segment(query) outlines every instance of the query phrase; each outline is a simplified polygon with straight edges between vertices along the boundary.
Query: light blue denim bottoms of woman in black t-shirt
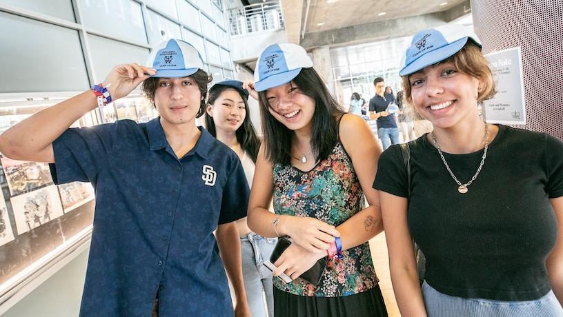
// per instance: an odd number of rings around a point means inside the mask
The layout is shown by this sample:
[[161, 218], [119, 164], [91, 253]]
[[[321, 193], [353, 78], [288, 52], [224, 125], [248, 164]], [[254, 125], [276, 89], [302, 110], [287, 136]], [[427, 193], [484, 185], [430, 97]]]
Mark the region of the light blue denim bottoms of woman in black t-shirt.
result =
[[438, 292], [426, 282], [422, 296], [428, 317], [561, 317], [563, 308], [552, 291], [537, 300], [510, 302], [462, 298]]

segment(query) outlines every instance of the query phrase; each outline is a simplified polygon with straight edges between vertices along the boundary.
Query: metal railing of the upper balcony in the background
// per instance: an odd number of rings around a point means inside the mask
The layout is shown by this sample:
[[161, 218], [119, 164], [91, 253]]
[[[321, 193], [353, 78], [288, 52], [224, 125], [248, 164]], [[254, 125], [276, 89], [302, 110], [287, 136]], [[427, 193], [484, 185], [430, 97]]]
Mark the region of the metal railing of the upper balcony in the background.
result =
[[242, 35], [284, 28], [279, 1], [251, 4], [228, 10], [230, 35]]

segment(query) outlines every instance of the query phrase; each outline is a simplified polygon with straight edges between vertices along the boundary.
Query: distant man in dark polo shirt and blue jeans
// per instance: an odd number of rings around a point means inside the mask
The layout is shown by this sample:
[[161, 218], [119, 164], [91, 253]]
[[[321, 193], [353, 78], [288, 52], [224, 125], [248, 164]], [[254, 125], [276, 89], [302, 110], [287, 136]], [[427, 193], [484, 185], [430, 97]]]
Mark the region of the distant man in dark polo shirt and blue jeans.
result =
[[393, 102], [392, 98], [385, 98], [385, 81], [381, 77], [373, 80], [375, 86], [375, 96], [370, 99], [369, 110], [373, 111], [371, 119], [377, 119], [377, 136], [382, 141], [383, 150], [387, 150], [391, 144], [399, 144], [399, 129], [394, 114], [387, 112], [389, 103]]

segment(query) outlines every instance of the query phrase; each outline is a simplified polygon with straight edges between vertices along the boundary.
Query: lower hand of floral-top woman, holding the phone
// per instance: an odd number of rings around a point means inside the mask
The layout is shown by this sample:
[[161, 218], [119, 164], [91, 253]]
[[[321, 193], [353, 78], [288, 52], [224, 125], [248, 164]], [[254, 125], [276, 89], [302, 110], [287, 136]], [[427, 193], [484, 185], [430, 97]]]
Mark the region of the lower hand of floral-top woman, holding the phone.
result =
[[295, 280], [299, 275], [313, 267], [319, 258], [324, 258], [325, 256], [326, 252], [309, 252], [304, 247], [297, 245], [297, 243], [291, 243], [275, 261], [274, 265], [277, 269], [273, 272], [273, 276], [278, 276], [283, 272], [292, 280]]

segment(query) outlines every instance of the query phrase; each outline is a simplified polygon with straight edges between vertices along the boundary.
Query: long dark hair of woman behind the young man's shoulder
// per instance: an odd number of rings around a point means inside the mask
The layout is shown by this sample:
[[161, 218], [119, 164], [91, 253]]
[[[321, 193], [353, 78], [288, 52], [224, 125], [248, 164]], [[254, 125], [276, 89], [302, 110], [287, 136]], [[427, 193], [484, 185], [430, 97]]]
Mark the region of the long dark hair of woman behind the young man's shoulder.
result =
[[[260, 139], [256, 136], [256, 131], [254, 130], [254, 126], [252, 121], [250, 121], [250, 109], [248, 108], [248, 101], [246, 98], [235, 88], [224, 86], [224, 85], [215, 85], [209, 90], [209, 97], [207, 99], [207, 103], [209, 105], [213, 105], [215, 101], [221, 96], [225, 90], [232, 89], [238, 92], [241, 95], [242, 100], [244, 101], [244, 108], [246, 109], [246, 116], [244, 117], [244, 121], [242, 121], [241, 126], [237, 129], [237, 141], [239, 141], [242, 150], [248, 153], [250, 159], [256, 163], [256, 158], [258, 156], [258, 150], [260, 149]], [[205, 121], [206, 121], [206, 128], [209, 133], [215, 137], [217, 137], [217, 130], [215, 129], [215, 122], [213, 118], [205, 112]]]

